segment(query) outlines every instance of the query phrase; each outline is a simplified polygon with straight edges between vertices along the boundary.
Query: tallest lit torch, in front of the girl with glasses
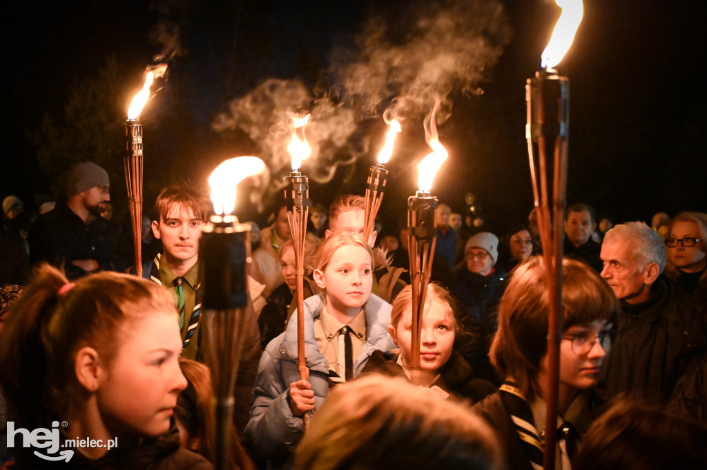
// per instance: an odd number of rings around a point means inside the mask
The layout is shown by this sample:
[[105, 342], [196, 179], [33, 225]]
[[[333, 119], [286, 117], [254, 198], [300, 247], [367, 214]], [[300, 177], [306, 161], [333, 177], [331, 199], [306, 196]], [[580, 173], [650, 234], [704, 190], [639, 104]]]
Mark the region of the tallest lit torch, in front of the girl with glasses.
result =
[[[569, 79], [560, 76], [553, 68], [564, 57], [574, 40], [583, 16], [581, 0], [555, 0], [562, 8], [550, 41], [542, 52], [542, 70], [525, 85], [527, 106], [528, 157], [532, 180], [534, 205], [542, 242], [542, 256], [547, 269], [550, 310], [547, 336], [549, 364], [549, 392], [546, 423], [554, 423], [557, 416], [557, 394], [559, 385], [559, 350], [562, 336], [562, 255], [563, 216], [566, 206], [567, 151], [569, 139]], [[547, 154], [554, 155], [551, 169], [552, 213], [548, 192], [549, 175]], [[544, 468], [554, 469], [556, 430], [548, 426], [544, 442]]]

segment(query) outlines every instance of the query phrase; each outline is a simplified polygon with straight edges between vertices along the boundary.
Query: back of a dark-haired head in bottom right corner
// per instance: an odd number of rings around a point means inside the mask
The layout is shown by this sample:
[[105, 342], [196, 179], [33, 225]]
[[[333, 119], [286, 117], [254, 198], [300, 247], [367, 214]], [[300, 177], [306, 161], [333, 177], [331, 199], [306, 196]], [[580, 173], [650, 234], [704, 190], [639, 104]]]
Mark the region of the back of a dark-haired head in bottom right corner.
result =
[[707, 426], [659, 406], [617, 399], [583, 437], [574, 470], [697, 470]]

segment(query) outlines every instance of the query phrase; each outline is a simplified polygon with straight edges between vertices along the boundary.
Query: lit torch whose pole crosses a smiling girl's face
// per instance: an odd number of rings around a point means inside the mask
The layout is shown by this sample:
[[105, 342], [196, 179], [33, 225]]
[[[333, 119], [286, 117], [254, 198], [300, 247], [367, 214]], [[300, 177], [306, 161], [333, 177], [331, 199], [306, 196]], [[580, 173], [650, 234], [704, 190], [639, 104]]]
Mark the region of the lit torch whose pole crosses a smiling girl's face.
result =
[[423, 158], [417, 167], [419, 172], [419, 191], [407, 199], [408, 255], [412, 285], [412, 344], [409, 369], [411, 381], [416, 384], [421, 382], [420, 327], [437, 242], [435, 209], [437, 208], [438, 199], [430, 194], [430, 190], [437, 171], [447, 160], [448, 156], [437, 134], [435, 115], [439, 105], [440, 100], [437, 98], [432, 108], [430, 122], [425, 129], [427, 142], [432, 148], [432, 153]]

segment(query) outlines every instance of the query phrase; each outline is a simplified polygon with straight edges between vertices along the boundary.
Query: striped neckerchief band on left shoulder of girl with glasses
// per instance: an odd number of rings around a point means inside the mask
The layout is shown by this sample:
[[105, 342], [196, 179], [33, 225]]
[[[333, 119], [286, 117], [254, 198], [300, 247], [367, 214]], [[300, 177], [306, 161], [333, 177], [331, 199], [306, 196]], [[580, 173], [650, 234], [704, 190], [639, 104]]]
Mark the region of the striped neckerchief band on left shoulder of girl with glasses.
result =
[[534, 470], [542, 470], [543, 446], [540, 437], [537, 435], [532, 411], [525, 397], [513, 382], [505, 382], [498, 389], [501, 394], [503, 405], [513, 420], [515, 430], [520, 437], [520, 445], [525, 450], [525, 454], [530, 459], [530, 465]]

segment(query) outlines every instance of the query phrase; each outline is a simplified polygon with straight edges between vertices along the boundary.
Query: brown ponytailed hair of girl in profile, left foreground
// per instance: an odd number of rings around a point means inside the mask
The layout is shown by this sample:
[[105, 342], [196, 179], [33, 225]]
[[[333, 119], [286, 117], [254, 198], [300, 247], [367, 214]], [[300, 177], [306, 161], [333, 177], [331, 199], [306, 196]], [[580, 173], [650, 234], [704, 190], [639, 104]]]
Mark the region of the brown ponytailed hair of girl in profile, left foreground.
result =
[[[76, 281], [42, 264], [8, 313], [0, 341], [0, 383], [24, 427], [47, 416], [66, 416], [87, 397], [74, 372], [84, 346], [110, 365], [124, 324], [148, 310], [174, 312], [173, 296], [152, 281], [103, 272]], [[66, 290], [59, 294], [59, 289]]]

